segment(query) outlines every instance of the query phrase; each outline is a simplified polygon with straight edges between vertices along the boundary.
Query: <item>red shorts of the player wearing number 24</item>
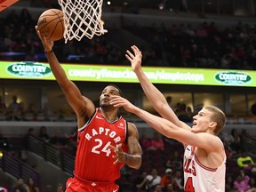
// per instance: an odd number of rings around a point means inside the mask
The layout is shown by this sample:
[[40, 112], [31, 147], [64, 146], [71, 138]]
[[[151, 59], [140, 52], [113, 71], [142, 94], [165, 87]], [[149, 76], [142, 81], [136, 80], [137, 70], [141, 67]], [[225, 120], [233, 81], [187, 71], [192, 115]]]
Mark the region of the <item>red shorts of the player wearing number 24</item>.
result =
[[119, 186], [115, 182], [93, 182], [74, 178], [69, 178], [66, 182], [65, 192], [117, 192]]

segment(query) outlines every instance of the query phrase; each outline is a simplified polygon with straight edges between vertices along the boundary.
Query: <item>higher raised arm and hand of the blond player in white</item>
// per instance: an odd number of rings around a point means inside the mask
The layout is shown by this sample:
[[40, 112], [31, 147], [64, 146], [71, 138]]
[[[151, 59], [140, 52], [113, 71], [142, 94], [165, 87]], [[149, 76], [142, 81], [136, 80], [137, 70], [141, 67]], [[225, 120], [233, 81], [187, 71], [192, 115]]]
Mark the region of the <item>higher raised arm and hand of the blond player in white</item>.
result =
[[[140, 81], [140, 85], [145, 92], [148, 100], [151, 102], [156, 111], [164, 118], [172, 121], [173, 124], [182, 126], [179, 118], [172, 111], [172, 108], [168, 105], [166, 99], [162, 92], [160, 92], [154, 84], [152, 84], [146, 74], [141, 68], [142, 53], [136, 45], [132, 45], [132, 52], [126, 51], [125, 57], [130, 60], [132, 65], [132, 70], [135, 72], [136, 76]], [[186, 126], [185, 126], [186, 127]]]

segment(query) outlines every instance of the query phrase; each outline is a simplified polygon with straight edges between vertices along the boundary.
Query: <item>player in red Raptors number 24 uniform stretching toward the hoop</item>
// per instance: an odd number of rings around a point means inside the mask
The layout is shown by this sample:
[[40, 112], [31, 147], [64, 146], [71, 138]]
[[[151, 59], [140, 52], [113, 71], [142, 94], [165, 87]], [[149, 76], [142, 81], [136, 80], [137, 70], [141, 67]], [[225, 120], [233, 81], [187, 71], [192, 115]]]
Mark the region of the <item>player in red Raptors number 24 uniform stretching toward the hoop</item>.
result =
[[100, 94], [100, 108], [95, 108], [68, 80], [52, 52], [53, 42], [41, 36], [37, 26], [36, 33], [44, 45], [52, 73], [77, 116], [75, 171], [66, 183], [66, 192], [118, 191], [115, 180], [120, 177], [121, 167], [127, 164], [139, 169], [141, 164], [137, 128], [117, 116], [118, 108], [109, 104], [114, 95], [121, 95], [120, 90], [115, 85], [105, 87]]

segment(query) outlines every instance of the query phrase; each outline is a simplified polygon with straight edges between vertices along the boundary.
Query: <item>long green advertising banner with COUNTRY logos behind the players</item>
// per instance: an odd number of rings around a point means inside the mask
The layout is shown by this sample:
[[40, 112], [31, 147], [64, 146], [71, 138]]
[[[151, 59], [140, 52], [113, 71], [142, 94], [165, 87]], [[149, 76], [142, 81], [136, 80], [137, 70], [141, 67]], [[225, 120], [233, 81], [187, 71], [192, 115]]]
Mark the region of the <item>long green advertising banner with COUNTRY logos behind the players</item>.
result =
[[[61, 64], [72, 81], [138, 83], [129, 66]], [[195, 84], [256, 87], [252, 70], [143, 67], [154, 84]], [[0, 61], [0, 78], [54, 80], [47, 63]]]

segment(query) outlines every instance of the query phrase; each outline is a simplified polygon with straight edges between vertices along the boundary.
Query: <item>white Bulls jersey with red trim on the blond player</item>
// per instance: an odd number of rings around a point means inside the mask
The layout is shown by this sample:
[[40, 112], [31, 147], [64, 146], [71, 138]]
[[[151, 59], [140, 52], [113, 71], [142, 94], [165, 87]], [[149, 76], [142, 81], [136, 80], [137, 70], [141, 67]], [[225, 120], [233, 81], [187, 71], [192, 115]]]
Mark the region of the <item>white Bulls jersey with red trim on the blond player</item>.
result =
[[194, 147], [185, 145], [183, 169], [186, 192], [225, 191], [226, 156], [220, 167], [212, 169], [199, 162]]

